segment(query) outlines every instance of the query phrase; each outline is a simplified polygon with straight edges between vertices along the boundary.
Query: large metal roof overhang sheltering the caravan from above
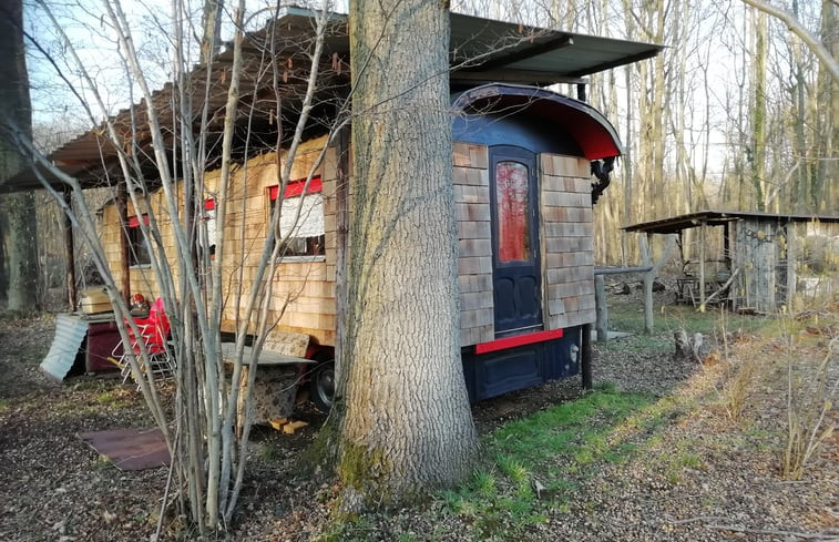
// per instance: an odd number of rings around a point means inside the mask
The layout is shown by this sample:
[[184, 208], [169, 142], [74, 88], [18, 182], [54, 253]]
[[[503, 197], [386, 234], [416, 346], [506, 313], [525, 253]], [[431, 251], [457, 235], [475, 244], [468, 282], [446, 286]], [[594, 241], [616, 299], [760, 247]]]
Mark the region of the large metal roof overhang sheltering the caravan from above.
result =
[[[274, 105], [274, 80], [270, 74], [266, 74], [266, 70], [258, 69], [266, 62], [266, 48], [270, 51], [269, 59], [276, 62], [277, 70], [284, 72], [280, 76], [283, 82], [276, 89], [287, 94], [284, 114], [287, 116], [286, 122], [293, 122], [296, 112], [299, 111], [299, 100], [295, 100], [294, 96], [305, 89], [308, 75], [305, 67], [308, 50], [314, 43], [316, 17], [315, 11], [285, 8], [272, 24], [248, 33], [245, 39], [243, 51], [246, 68], [239, 89], [241, 110], [247, 110], [253, 104], [257, 114], [263, 114], [262, 124], [257, 122], [257, 130], [264, 130], [266, 139], [270, 137], [272, 131], [276, 132], [276, 123], [270, 122], [268, 112]], [[328, 130], [327, 119], [337, 111], [338, 96], [345, 93], [349, 85], [349, 39], [346, 25], [346, 16], [331, 16], [320, 68], [323, 83], [317, 96], [323, 105], [319, 114], [316, 114], [310, 123], [310, 135]], [[655, 57], [662, 49], [663, 47], [656, 44], [575, 34], [452, 13], [450, 81], [453, 89], [461, 90], [485, 82], [531, 85], [582, 83], [585, 75]], [[214, 82], [207, 101], [211, 114], [211, 147], [212, 137], [221, 136], [227, 98], [225, 74], [232, 63], [233, 51], [228, 47], [215, 58], [209, 78], [206, 67], [196, 67], [190, 74], [191, 80], [198, 83], [207, 80]], [[175, 91], [174, 85], [168, 83], [153, 93], [153, 101], [158, 106], [161, 119], [175, 116], [170, 106]], [[204, 105], [204, 86], [197, 84], [190, 92], [195, 104], [192, 113], [193, 126], [197, 130], [197, 114]], [[141, 166], [147, 167], [149, 174], [154, 175], [151, 137], [144, 129], [146, 121], [146, 108], [143, 102], [111, 117], [124, 142], [121, 146], [139, 147], [142, 154], [137, 156]], [[136, 130], [132, 129], [132, 122]], [[248, 117], [245, 113], [239, 115], [238, 124], [243, 129], [248, 122], [249, 130], [253, 130], [254, 117]], [[83, 187], [102, 186], [109, 175], [121, 175], [117, 161], [120, 151], [105, 136], [104, 129], [102, 124], [65, 143], [50, 154], [49, 160], [63, 173], [76, 177]], [[164, 126], [164, 130], [170, 134], [173, 132], [171, 127]], [[136, 146], [131, 145], [131, 141], [136, 141]], [[171, 151], [173, 137], [170, 136], [166, 144]], [[6, 182], [0, 182], [0, 192], [40, 188], [42, 186], [39, 175], [57, 187], [63, 184], [48, 168], [33, 165]]]

